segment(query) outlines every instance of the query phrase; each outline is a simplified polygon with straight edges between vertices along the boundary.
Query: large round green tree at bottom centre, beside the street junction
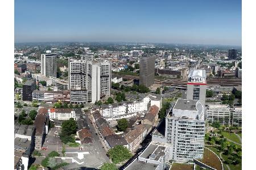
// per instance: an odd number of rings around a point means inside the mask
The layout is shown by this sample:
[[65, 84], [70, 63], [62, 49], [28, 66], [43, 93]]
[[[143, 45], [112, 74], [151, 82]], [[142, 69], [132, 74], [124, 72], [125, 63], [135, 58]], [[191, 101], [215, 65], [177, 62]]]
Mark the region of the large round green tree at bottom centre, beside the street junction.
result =
[[126, 147], [121, 145], [110, 148], [110, 150], [108, 151], [108, 155], [110, 159], [112, 159], [112, 162], [115, 164], [123, 162], [124, 160], [127, 160], [132, 156], [130, 151]]

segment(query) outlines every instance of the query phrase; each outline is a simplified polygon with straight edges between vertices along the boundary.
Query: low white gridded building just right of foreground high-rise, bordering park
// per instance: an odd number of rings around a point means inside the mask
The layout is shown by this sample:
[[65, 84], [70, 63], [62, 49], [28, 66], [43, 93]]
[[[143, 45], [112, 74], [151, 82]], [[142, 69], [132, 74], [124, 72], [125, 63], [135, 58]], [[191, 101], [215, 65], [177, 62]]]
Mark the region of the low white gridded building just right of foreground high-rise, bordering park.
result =
[[207, 121], [220, 122], [221, 125], [230, 125], [230, 107], [226, 104], [209, 104], [207, 107]]

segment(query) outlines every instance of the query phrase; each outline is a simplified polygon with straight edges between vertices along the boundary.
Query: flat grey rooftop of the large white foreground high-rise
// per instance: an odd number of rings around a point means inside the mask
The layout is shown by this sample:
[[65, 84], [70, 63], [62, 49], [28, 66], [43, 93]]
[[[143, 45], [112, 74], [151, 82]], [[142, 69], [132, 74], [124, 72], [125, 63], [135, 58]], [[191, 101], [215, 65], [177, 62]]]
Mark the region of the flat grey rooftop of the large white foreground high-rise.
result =
[[174, 109], [197, 111], [196, 103], [198, 100], [178, 99], [174, 105]]

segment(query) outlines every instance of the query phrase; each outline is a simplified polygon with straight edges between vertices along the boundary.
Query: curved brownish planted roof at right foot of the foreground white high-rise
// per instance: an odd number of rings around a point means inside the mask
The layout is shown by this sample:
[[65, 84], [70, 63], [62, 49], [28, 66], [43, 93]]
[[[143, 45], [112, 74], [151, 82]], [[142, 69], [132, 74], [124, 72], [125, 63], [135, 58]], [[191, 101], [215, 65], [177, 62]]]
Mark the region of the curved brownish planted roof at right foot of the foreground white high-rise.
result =
[[208, 166], [215, 168], [217, 170], [222, 170], [221, 161], [213, 153], [213, 151], [204, 148], [203, 159], [199, 160], [201, 163], [207, 164]]

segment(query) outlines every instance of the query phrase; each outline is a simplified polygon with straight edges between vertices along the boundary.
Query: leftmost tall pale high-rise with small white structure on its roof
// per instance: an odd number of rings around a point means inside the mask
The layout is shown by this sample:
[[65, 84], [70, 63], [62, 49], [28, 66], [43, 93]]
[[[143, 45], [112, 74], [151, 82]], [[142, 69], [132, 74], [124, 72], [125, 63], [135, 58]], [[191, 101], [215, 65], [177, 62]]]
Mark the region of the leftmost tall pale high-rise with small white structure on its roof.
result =
[[46, 54], [41, 54], [41, 74], [46, 77], [57, 77], [57, 56], [47, 50]]

